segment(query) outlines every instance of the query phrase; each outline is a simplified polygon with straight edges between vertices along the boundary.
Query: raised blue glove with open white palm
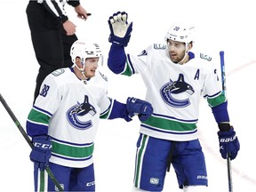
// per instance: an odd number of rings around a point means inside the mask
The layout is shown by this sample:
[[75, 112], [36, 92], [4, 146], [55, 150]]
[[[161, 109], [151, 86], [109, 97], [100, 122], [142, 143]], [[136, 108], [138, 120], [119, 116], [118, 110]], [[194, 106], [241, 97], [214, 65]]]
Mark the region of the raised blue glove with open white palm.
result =
[[110, 36], [108, 41], [117, 46], [127, 46], [132, 33], [132, 23], [127, 22], [126, 12], [116, 12], [109, 17]]

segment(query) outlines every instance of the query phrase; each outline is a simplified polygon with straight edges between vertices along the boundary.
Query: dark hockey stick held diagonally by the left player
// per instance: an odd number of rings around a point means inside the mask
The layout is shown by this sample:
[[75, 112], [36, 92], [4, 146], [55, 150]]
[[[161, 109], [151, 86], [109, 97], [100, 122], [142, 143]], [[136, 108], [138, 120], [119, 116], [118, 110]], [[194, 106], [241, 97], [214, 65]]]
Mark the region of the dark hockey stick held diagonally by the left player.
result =
[[[23, 127], [21, 126], [20, 122], [18, 121], [18, 119], [16, 118], [16, 116], [14, 116], [12, 109], [9, 108], [8, 104], [6, 103], [6, 101], [4, 100], [4, 97], [2, 96], [2, 94], [0, 93], [0, 101], [2, 102], [2, 104], [4, 105], [4, 108], [6, 109], [6, 111], [8, 112], [8, 114], [12, 117], [12, 120], [14, 122], [14, 124], [16, 124], [16, 126], [18, 127], [18, 129], [20, 130], [21, 134], [23, 135], [23, 137], [25, 138], [25, 140], [27, 140], [28, 145], [30, 146], [30, 148], [33, 148], [33, 143], [32, 141], [29, 139], [27, 132], [25, 132], [25, 130], [23, 129]], [[54, 182], [54, 184], [56, 185], [56, 187], [59, 189], [59, 191], [64, 191], [63, 188], [60, 186], [60, 183], [58, 182], [58, 180], [56, 180], [56, 178], [54, 177], [51, 169], [49, 168], [49, 166], [47, 165], [45, 168], [45, 171], [48, 173], [48, 175], [50, 176], [50, 178], [52, 179], [52, 181]]]

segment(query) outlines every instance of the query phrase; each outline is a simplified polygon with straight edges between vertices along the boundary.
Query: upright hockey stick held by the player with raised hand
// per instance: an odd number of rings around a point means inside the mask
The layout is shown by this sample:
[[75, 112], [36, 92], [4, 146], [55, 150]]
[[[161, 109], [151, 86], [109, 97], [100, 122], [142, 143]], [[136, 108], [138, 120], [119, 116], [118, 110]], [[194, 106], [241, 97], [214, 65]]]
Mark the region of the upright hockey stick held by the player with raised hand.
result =
[[[220, 51], [220, 70], [221, 70], [221, 80], [222, 80], [222, 91], [227, 97], [227, 87], [226, 87], [226, 73], [225, 73], [225, 62], [224, 62], [224, 52]], [[231, 160], [230, 154], [227, 156], [227, 166], [228, 166], [228, 192], [233, 192], [233, 182], [232, 182], [232, 171], [231, 171]]]

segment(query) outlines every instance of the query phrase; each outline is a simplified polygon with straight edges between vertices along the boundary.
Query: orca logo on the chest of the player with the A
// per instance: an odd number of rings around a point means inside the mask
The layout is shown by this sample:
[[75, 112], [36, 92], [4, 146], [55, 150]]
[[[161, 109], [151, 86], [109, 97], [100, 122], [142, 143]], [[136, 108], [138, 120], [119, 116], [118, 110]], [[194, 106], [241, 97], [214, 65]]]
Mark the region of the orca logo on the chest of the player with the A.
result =
[[[184, 92], [192, 95], [195, 90], [190, 84], [185, 82], [182, 74], [179, 75], [177, 81], [172, 82], [172, 79], [170, 79], [170, 82], [164, 84], [164, 86], [160, 89], [160, 94], [163, 100], [174, 108], [185, 108], [190, 105], [190, 100], [184, 99], [182, 94]], [[174, 98], [174, 95], [177, 95], [177, 98]]]

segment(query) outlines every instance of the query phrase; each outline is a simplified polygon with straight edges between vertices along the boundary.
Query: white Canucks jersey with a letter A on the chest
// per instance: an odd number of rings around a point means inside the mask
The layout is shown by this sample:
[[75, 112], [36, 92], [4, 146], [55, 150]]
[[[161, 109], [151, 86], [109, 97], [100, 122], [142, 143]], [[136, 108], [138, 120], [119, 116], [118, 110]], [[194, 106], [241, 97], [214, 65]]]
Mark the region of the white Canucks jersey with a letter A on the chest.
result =
[[195, 140], [200, 97], [211, 107], [226, 100], [212, 58], [188, 54], [184, 65], [172, 62], [164, 44], [153, 44], [139, 56], [127, 54], [122, 74], [140, 73], [147, 86], [146, 100], [154, 108], [154, 114], [141, 123], [140, 132], [165, 140]]

